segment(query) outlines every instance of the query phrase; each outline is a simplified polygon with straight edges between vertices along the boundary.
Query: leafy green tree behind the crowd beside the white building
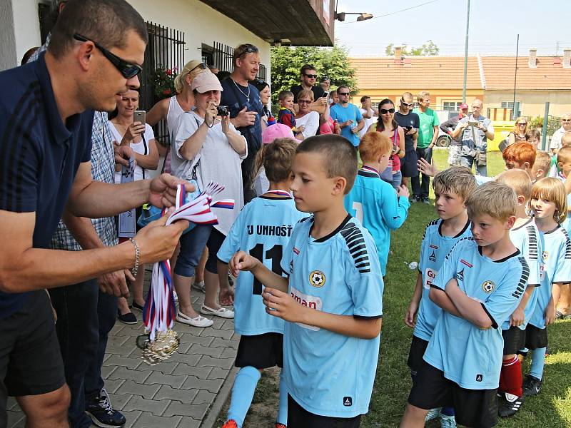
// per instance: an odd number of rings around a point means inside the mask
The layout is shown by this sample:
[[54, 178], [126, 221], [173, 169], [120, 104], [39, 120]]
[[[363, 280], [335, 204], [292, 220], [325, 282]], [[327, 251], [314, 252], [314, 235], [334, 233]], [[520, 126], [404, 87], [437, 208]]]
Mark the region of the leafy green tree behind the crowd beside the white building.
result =
[[311, 64], [318, 74], [331, 79], [331, 87], [349, 86], [353, 93], [358, 92], [355, 68], [351, 67], [345, 46], [321, 48], [317, 46], [281, 46], [271, 49], [272, 103], [278, 102], [280, 91], [289, 91], [300, 83], [300, 68]]

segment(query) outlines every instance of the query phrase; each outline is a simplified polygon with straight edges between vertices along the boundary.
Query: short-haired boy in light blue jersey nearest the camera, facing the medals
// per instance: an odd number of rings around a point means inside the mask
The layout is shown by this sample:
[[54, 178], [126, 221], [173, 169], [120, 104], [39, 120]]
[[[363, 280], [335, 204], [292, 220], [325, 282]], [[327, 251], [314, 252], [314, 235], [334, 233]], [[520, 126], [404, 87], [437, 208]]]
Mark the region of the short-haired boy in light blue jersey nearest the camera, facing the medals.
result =
[[295, 226], [283, 278], [245, 252], [230, 267], [266, 289], [267, 312], [288, 321], [283, 372], [288, 428], [358, 427], [368, 412], [378, 362], [383, 277], [368, 231], [343, 207], [357, 151], [341, 136], [307, 138], [297, 149], [295, 206], [313, 215]]

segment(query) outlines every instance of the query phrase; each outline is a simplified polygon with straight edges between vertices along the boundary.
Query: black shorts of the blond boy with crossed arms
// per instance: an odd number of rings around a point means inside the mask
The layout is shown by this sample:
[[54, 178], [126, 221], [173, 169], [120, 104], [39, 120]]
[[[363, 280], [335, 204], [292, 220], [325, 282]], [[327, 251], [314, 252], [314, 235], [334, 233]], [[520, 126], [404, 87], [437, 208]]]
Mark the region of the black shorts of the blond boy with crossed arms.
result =
[[420, 409], [454, 407], [458, 425], [489, 428], [497, 424], [497, 389], [465, 389], [423, 362], [408, 402]]

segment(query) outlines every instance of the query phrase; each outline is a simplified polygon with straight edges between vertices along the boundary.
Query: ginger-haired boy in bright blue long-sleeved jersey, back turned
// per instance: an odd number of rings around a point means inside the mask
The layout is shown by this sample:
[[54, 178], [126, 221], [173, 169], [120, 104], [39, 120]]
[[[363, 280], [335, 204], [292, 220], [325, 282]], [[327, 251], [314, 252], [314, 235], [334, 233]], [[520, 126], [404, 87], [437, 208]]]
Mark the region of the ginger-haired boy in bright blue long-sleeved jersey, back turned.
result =
[[380, 179], [379, 171], [387, 168], [393, 151], [390, 139], [378, 132], [365, 133], [359, 144], [363, 168], [357, 173], [353, 188], [345, 195], [345, 210], [359, 220], [375, 240], [380, 270], [385, 276], [390, 231], [405, 223], [410, 202], [408, 188], [400, 185], [397, 192]]

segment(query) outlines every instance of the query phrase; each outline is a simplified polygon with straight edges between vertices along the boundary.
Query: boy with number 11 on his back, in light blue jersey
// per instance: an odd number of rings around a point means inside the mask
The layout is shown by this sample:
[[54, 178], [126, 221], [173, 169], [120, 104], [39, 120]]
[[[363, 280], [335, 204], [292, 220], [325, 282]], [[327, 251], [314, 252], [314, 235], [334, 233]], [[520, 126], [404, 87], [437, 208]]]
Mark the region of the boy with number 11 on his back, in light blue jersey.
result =
[[[229, 289], [228, 261], [239, 250], [246, 251], [282, 275], [281, 258], [293, 226], [303, 218], [289, 193], [291, 162], [298, 144], [292, 138], [279, 138], [263, 146], [256, 165], [263, 165], [270, 181], [269, 190], [248, 203], [218, 250], [221, 287]], [[256, 174], [254, 174], [256, 175]], [[241, 428], [251, 406], [263, 369], [283, 367], [283, 320], [271, 317], [263, 305], [262, 284], [244, 272], [236, 281], [234, 330], [241, 335], [236, 356], [240, 370], [234, 379], [228, 418], [223, 428]], [[288, 423], [288, 392], [280, 377], [280, 404], [276, 428]]]

